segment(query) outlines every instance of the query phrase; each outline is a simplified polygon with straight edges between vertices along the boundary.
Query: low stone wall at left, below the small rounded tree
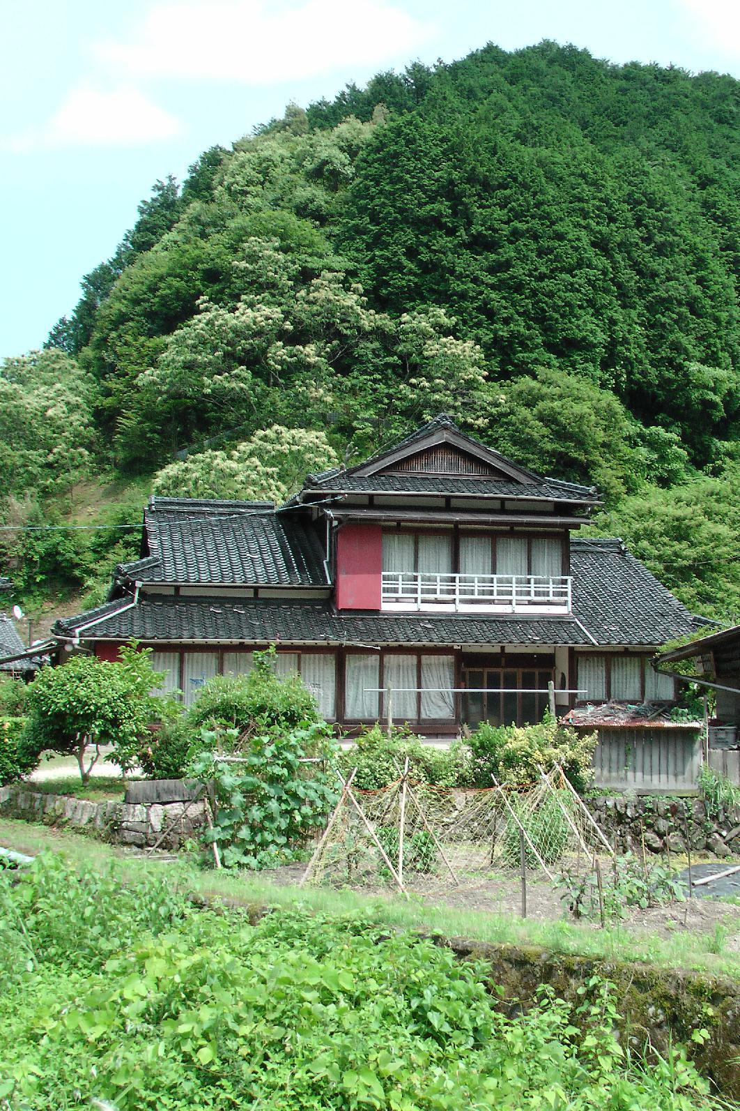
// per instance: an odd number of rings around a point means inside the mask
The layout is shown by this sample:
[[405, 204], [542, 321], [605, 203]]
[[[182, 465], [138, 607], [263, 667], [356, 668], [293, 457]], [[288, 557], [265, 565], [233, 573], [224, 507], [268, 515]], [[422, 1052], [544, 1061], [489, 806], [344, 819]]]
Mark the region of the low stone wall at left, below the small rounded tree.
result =
[[203, 802], [88, 802], [65, 794], [41, 794], [27, 787], [0, 788], [0, 813], [9, 818], [69, 825], [118, 844], [178, 849], [205, 824]]

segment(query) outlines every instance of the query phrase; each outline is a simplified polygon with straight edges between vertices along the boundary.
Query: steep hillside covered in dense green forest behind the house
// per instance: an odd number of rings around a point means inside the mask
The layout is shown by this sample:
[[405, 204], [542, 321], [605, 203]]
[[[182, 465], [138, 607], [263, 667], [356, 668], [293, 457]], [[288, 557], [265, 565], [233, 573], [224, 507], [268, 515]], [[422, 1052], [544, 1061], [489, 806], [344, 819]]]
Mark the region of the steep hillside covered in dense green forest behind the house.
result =
[[[596, 482], [597, 531], [737, 615], [739, 109], [730, 77], [488, 46], [206, 151], [7, 361], [6, 522], [72, 519], [101, 473], [133, 483], [109, 526], [150, 483], [282, 497], [447, 411]], [[3, 534], [26, 597], [92, 598], [138, 542]]]

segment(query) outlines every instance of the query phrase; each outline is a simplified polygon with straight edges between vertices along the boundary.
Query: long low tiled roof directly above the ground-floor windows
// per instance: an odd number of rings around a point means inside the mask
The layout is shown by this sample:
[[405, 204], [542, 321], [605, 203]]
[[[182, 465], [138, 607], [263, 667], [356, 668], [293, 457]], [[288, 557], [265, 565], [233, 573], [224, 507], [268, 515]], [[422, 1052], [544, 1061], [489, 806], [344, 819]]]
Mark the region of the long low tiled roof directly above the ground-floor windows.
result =
[[[130, 600], [129, 600], [130, 601]], [[116, 608], [118, 604], [118, 608]], [[337, 612], [322, 601], [233, 598], [141, 598], [109, 603], [54, 625], [62, 635], [91, 620], [90, 640], [245, 641], [361, 644], [588, 644], [572, 618]]]

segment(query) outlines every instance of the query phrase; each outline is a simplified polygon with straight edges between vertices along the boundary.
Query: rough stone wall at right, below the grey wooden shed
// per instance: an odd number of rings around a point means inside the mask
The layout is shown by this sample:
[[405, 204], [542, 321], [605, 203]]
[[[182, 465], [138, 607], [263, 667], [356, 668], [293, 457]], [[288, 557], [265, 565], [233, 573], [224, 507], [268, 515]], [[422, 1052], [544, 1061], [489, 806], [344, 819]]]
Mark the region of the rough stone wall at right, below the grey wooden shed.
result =
[[656, 795], [599, 795], [589, 799], [589, 810], [619, 852], [683, 854], [709, 852], [713, 857], [740, 854], [740, 807], [709, 812], [701, 799]]

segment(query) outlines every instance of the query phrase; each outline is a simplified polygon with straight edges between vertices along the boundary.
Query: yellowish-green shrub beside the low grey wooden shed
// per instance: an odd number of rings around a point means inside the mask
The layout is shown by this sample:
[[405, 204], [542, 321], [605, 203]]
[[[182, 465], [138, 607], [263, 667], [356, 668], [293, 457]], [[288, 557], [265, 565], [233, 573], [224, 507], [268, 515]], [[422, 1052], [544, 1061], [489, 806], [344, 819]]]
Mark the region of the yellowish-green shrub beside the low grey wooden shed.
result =
[[549, 714], [538, 725], [485, 723], [468, 742], [473, 782], [490, 787], [493, 772], [500, 783], [526, 785], [539, 780], [538, 764], [549, 771], [558, 763], [576, 790], [584, 791], [594, 777], [596, 741], [596, 733], [577, 733]]

